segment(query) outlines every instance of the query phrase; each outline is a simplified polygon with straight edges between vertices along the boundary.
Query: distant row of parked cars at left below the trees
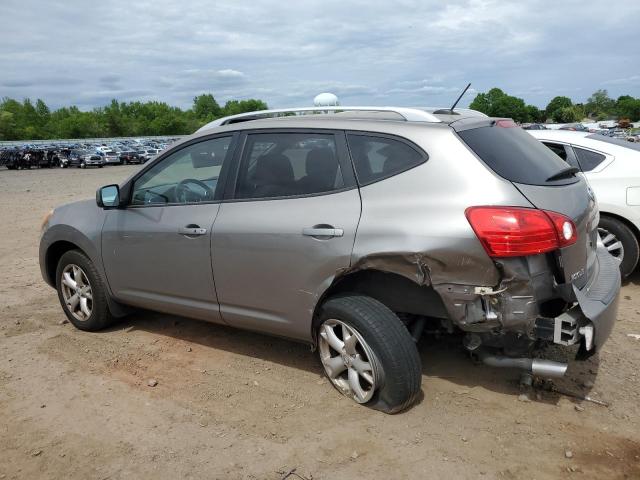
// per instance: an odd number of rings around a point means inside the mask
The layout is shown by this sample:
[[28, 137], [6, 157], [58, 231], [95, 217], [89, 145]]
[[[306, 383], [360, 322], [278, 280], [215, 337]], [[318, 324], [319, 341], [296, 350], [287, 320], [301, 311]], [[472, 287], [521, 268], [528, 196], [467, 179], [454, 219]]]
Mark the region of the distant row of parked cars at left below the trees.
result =
[[167, 148], [169, 143], [123, 140], [111, 144], [51, 143], [23, 145], [0, 150], [0, 166], [9, 170], [52, 167], [98, 167], [143, 164]]

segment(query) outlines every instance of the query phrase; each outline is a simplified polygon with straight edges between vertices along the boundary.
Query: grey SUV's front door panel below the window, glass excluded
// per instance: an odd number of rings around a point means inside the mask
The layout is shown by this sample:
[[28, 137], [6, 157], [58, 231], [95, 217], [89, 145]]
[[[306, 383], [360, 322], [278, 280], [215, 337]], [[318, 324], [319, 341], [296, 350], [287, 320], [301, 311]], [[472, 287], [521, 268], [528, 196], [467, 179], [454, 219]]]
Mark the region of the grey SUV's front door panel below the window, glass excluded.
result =
[[220, 322], [211, 270], [211, 231], [219, 209], [209, 203], [110, 210], [102, 255], [115, 297]]

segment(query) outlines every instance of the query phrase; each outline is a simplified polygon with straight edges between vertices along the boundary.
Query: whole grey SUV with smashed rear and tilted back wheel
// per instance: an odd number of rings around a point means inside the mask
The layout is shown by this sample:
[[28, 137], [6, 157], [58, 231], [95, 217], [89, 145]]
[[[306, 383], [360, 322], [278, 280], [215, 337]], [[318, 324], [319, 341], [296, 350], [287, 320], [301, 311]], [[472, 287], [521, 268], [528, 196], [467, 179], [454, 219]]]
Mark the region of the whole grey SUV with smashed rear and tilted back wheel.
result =
[[52, 211], [40, 265], [71, 323], [144, 308], [300, 340], [389, 413], [420, 393], [425, 328], [550, 376], [534, 346], [602, 347], [620, 272], [582, 174], [511, 120], [323, 109], [217, 120]]

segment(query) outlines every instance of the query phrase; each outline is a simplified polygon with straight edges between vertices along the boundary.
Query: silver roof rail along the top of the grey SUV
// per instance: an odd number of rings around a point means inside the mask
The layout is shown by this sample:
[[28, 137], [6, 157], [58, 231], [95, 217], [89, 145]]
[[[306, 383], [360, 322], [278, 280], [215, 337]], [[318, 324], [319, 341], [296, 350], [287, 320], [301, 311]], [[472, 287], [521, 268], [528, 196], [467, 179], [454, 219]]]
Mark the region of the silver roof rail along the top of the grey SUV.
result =
[[230, 115], [228, 117], [218, 118], [212, 122], [207, 123], [203, 127], [198, 129], [198, 132], [202, 130], [208, 130], [214, 127], [220, 127], [222, 125], [229, 125], [231, 123], [246, 122], [250, 120], [259, 120], [263, 118], [283, 117], [285, 114], [325, 114], [328, 112], [391, 112], [401, 116], [407, 122], [428, 122], [428, 123], [440, 123], [440, 120], [433, 113], [426, 112], [419, 108], [406, 108], [406, 107], [345, 107], [341, 105], [336, 106], [319, 106], [319, 107], [300, 107], [300, 108], [277, 108], [273, 110], [258, 110], [256, 112], [240, 113], [238, 115]]

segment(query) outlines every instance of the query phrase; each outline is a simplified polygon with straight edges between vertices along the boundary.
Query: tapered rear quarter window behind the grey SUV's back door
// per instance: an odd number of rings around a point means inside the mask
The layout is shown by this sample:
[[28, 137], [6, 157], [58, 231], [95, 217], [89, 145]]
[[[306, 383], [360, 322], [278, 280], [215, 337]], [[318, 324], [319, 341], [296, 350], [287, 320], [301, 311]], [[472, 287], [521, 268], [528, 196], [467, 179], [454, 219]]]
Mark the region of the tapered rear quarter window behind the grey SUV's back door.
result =
[[347, 140], [360, 185], [404, 172], [427, 160], [426, 154], [393, 138], [348, 134]]

